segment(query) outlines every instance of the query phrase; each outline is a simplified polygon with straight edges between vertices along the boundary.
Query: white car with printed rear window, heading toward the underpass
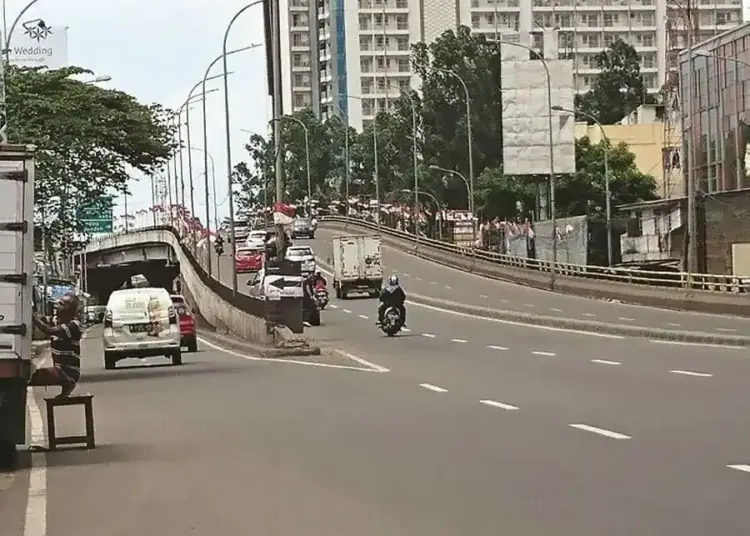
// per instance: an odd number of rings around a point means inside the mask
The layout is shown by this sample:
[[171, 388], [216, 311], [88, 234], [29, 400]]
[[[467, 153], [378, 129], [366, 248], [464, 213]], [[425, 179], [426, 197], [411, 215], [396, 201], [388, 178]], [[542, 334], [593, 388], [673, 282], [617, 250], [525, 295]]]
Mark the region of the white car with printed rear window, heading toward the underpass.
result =
[[104, 368], [129, 357], [165, 356], [182, 365], [180, 322], [163, 288], [116, 290], [104, 314]]

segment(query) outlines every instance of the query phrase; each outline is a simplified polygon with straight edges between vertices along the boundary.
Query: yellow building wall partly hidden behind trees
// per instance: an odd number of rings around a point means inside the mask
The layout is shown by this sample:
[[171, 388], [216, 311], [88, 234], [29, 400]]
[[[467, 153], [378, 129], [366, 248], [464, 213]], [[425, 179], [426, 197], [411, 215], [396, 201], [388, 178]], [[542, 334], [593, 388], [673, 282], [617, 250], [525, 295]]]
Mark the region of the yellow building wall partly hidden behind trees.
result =
[[[676, 130], [676, 129], [674, 129]], [[630, 152], [635, 155], [635, 164], [642, 173], [652, 175], [656, 180], [656, 194], [663, 198], [682, 197], [684, 195], [682, 174], [679, 169], [664, 176], [664, 149], [680, 147], [679, 132], [673, 132], [669, 142], [665, 143], [664, 123], [642, 123], [636, 125], [604, 125], [604, 132], [613, 146], [625, 142]], [[597, 125], [576, 123], [576, 138], [588, 136], [592, 143], [599, 143], [602, 132]]]

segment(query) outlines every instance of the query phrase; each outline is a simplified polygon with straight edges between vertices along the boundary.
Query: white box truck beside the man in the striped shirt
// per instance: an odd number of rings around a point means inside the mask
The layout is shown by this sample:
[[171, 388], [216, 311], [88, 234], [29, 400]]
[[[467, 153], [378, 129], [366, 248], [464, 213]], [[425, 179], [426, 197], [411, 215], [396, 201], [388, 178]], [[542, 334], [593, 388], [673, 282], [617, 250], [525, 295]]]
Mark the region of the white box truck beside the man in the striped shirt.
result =
[[0, 466], [26, 442], [34, 303], [34, 154], [0, 145]]

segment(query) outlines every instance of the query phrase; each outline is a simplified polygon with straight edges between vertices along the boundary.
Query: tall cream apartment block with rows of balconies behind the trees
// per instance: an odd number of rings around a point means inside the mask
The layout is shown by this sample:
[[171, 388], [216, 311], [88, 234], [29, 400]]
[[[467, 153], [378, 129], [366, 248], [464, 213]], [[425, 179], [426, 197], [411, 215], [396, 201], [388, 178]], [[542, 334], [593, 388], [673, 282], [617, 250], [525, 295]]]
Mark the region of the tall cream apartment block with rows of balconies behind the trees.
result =
[[418, 84], [410, 45], [459, 24], [572, 59], [579, 92], [598, 74], [596, 54], [622, 39], [656, 92], [687, 42], [688, 10], [695, 43], [742, 22], [742, 0], [280, 1], [284, 112], [310, 107], [323, 119], [348, 116], [355, 128]]

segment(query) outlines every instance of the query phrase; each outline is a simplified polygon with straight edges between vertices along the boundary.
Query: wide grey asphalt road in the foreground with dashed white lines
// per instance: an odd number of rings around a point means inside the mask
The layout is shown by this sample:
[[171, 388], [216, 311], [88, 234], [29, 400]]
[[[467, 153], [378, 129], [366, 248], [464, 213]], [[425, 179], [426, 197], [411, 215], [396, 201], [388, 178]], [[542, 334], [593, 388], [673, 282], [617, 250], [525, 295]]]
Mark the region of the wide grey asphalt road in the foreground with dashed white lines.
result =
[[0, 491], [3, 536], [747, 534], [744, 351], [416, 306], [387, 338], [376, 306], [334, 300], [308, 333], [383, 373], [206, 345], [104, 371], [92, 331], [100, 446], [35, 454], [44, 478]]

